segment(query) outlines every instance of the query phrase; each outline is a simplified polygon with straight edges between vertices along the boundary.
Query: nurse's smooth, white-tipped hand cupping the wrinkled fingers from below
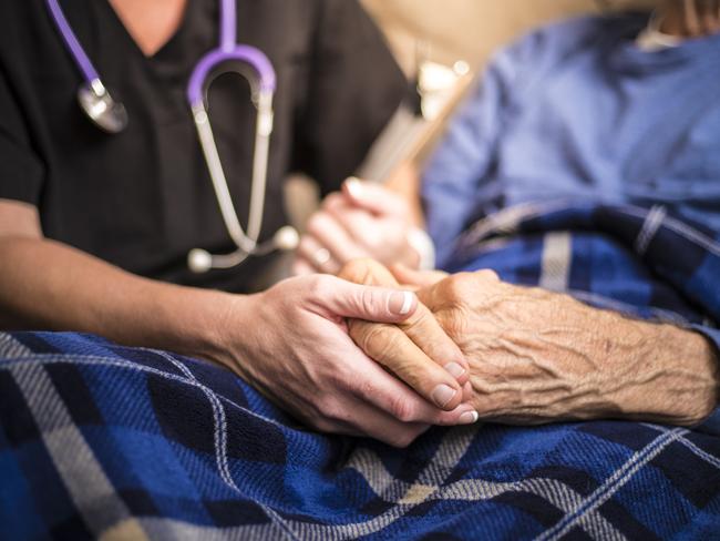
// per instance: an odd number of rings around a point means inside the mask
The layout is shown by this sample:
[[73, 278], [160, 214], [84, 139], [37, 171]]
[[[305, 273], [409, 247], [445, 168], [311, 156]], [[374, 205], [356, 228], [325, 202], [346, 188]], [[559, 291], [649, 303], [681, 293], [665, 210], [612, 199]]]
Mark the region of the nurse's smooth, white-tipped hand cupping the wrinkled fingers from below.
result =
[[[454, 396], [442, 406], [423, 399], [348, 336], [346, 318], [394, 324], [412, 317], [412, 293], [315, 275], [234, 303], [217, 360], [315, 429], [404, 447], [429, 425], [461, 423], [471, 409], [456, 408]], [[444, 371], [439, 379], [459, 387]]]

